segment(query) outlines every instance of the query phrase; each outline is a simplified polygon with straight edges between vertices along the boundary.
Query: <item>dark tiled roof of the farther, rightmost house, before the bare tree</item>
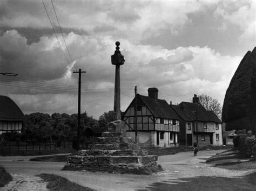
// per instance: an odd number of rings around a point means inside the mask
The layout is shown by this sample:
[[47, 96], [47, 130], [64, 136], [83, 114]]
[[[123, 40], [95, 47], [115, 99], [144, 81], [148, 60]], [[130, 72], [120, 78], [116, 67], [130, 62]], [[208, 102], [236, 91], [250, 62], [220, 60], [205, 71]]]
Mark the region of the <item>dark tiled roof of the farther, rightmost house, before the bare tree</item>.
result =
[[181, 102], [179, 107], [183, 109], [189, 118], [194, 121], [205, 121], [205, 122], [218, 122], [221, 123], [220, 119], [214, 114], [213, 111], [207, 111], [203, 105], [198, 103]]

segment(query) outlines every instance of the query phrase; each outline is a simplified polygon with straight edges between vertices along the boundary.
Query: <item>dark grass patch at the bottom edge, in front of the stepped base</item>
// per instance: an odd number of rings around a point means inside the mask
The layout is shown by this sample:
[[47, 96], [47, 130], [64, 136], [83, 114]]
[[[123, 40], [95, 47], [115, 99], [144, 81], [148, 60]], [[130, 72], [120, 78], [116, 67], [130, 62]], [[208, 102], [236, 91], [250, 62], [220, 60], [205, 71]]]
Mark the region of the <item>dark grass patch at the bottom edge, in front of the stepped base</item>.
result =
[[83, 187], [78, 185], [75, 182], [71, 182], [68, 179], [63, 178], [62, 176], [58, 176], [55, 174], [39, 174], [37, 175], [41, 177], [45, 182], [48, 182], [46, 188], [50, 191], [92, 191], [93, 189]]

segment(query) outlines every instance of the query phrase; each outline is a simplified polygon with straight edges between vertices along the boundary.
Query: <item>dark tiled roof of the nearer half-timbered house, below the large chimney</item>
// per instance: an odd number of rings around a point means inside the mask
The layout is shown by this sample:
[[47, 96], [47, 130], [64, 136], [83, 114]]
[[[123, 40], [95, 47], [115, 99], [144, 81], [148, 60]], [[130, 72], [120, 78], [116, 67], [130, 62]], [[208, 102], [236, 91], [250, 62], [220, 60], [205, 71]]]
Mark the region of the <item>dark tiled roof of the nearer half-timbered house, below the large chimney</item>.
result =
[[149, 108], [155, 117], [168, 118], [168, 119], [180, 119], [176, 112], [170, 107], [165, 100], [154, 101], [151, 97], [138, 95], [144, 104]]

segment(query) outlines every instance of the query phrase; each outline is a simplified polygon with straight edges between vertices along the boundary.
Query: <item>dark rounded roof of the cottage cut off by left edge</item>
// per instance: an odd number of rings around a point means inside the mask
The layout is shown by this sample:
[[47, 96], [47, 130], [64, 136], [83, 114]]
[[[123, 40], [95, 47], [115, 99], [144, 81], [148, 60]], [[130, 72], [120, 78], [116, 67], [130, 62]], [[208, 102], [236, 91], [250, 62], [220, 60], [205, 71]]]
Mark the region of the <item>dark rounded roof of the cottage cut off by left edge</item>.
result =
[[24, 114], [10, 97], [0, 96], [1, 120], [24, 120]]

